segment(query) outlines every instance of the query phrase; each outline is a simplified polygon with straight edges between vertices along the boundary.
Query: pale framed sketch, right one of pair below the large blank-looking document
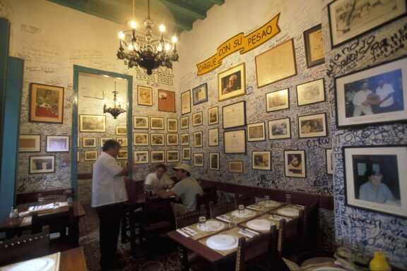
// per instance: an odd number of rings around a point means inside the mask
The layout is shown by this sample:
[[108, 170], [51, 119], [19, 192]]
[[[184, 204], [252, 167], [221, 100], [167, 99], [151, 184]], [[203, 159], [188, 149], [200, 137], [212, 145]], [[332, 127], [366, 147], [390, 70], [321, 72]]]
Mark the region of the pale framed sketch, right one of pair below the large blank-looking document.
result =
[[324, 102], [325, 88], [324, 78], [308, 83], [297, 85], [297, 105], [314, 104]]

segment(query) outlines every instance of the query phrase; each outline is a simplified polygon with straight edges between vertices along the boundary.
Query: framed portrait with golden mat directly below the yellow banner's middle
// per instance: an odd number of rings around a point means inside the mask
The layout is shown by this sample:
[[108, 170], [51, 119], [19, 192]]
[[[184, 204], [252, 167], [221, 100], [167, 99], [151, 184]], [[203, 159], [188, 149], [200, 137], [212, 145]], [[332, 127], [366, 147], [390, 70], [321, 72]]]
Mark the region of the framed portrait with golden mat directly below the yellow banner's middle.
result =
[[246, 94], [244, 63], [218, 74], [218, 101]]

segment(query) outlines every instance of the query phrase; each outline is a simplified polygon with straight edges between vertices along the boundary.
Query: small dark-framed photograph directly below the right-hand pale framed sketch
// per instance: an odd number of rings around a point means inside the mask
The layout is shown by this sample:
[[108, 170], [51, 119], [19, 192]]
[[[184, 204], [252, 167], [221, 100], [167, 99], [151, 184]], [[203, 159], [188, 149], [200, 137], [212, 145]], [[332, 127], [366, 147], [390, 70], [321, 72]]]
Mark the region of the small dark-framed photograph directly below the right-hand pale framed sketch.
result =
[[298, 116], [298, 136], [300, 138], [326, 136], [326, 113]]

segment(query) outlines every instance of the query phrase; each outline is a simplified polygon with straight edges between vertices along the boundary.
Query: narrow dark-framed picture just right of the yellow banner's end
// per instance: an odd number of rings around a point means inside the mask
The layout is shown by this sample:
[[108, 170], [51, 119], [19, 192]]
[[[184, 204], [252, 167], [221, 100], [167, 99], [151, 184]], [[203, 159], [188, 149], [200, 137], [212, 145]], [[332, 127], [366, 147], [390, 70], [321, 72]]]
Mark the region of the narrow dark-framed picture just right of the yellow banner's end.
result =
[[324, 40], [322, 39], [322, 25], [315, 25], [304, 31], [305, 56], [307, 67], [311, 68], [325, 63]]

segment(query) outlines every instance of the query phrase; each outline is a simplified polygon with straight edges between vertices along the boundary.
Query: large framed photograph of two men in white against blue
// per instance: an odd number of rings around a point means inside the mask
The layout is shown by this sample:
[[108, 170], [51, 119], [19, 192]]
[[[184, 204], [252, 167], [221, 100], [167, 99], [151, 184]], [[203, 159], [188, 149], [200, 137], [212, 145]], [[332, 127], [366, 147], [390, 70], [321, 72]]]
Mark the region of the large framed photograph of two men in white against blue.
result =
[[407, 57], [335, 78], [338, 127], [407, 119]]

